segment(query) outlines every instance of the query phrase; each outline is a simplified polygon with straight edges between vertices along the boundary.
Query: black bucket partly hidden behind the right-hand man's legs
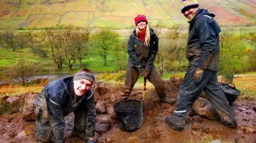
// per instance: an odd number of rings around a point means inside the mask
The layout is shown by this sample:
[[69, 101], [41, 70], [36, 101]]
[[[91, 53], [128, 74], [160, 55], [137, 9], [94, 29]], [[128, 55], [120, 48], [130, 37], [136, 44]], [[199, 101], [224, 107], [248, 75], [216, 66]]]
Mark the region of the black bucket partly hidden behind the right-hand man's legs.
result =
[[233, 87], [229, 84], [220, 83], [221, 89], [225, 93], [226, 99], [228, 99], [229, 105], [231, 106], [237, 97], [240, 95], [240, 92], [236, 89], [234, 84]]

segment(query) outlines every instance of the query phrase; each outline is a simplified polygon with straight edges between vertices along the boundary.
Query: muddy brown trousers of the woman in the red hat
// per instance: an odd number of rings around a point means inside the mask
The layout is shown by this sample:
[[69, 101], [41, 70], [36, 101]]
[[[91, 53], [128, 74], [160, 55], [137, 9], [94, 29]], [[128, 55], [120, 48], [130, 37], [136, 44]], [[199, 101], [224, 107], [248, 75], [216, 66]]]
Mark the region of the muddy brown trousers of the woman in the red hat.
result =
[[[139, 72], [135, 67], [127, 67], [126, 75], [125, 75], [125, 86], [123, 92], [125, 93], [123, 96], [130, 96], [131, 90], [133, 90], [133, 86], [138, 80]], [[147, 76], [148, 81], [155, 86], [156, 93], [160, 98], [166, 95], [166, 90], [164, 89], [164, 83], [161, 78], [160, 73], [156, 70], [155, 67], [152, 67], [151, 72]]]

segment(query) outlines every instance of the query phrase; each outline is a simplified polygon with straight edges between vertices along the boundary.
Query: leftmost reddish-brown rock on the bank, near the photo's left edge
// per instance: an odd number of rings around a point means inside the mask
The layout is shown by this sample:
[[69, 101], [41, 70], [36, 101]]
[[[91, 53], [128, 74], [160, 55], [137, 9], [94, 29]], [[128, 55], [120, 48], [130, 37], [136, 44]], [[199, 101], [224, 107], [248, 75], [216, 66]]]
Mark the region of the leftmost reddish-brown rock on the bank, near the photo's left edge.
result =
[[24, 105], [24, 99], [20, 97], [9, 97], [6, 98], [5, 102], [9, 105], [12, 113], [22, 111]]

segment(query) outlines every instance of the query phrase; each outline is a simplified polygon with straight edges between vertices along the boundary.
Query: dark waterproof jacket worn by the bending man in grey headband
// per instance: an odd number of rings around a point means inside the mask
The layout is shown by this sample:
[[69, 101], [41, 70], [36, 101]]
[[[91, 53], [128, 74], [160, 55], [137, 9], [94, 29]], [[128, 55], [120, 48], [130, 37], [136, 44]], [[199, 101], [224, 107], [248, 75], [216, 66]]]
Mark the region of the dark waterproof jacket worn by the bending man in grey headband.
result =
[[[96, 112], [94, 107], [94, 94], [91, 89], [78, 98], [73, 90], [73, 77], [50, 81], [44, 88], [47, 108], [50, 118], [53, 120], [51, 126], [57, 140], [64, 140], [65, 120], [79, 105], [84, 106], [89, 121], [89, 136], [94, 136]], [[49, 120], [51, 121], [51, 120]]]

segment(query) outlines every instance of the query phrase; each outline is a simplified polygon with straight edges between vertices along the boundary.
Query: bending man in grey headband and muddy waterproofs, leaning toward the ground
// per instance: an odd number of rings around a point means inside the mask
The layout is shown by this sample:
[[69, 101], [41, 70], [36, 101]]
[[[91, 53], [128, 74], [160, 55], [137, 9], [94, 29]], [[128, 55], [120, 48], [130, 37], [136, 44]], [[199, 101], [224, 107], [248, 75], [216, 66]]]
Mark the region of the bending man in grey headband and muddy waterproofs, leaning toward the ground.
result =
[[65, 142], [64, 116], [74, 112], [73, 136], [94, 143], [96, 112], [92, 71], [83, 68], [75, 76], [50, 81], [35, 100], [36, 131], [38, 142]]

